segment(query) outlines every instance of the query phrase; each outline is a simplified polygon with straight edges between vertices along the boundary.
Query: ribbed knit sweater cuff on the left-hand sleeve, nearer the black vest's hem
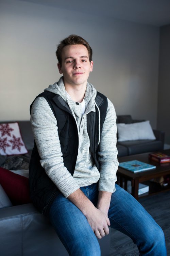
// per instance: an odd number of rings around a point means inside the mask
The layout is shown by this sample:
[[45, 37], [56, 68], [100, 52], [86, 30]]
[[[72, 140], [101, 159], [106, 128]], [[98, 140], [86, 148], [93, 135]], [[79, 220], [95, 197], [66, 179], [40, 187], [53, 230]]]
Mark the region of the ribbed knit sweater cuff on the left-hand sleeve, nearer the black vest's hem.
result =
[[60, 184], [57, 184], [58, 189], [65, 197], [68, 197], [74, 191], [80, 189], [78, 184], [73, 179], [63, 180]]

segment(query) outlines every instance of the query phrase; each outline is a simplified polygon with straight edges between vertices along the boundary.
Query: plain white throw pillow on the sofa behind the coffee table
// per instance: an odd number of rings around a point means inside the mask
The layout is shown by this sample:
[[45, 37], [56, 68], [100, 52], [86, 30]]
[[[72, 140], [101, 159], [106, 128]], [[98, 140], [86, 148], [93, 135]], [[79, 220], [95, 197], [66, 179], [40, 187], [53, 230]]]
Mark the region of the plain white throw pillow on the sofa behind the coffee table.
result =
[[117, 123], [118, 141], [156, 139], [149, 121]]

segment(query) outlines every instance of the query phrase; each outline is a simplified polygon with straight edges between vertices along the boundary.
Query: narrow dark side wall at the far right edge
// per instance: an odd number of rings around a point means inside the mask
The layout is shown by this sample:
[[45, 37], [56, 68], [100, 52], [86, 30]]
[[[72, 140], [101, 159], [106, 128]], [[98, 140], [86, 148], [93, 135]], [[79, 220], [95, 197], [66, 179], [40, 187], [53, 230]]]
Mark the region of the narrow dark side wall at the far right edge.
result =
[[157, 127], [170, 144], [170, 25], [160, 28]]

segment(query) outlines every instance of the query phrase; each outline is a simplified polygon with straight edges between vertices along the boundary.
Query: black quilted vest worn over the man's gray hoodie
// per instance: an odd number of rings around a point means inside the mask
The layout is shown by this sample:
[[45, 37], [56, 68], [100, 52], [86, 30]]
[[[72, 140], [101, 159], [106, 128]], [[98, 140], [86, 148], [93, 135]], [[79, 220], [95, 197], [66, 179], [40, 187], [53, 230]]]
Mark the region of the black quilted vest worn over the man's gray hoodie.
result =
[[[60, 139], [64, 166], [73, 176], [78, 155], [79, 138], [77, 125], [74, 117], [72, 116], [71, 110], [68, 104], [58, 94], [45, 91], [39, 94], [37, 97], [44, 97], [53, 111], [53, 114], [57, 120], [58, 136]], [[101, 135], [108, 105], [107, 98], [103, 94], [97, 92], [95, 102], [100, 109]], [[30, 106], [30, 112], [32, 104]], [[92, 111], [87, 114], [87, 132], [90, 138], [89, 150], [94, 157], [98, 170], [100, 171], [100, 164], [98, 162], [99, 111], [97, 109], [96, 112]], [[35, 142], [30, 160], [29, 184], [30, 197], [33, 204], [44, 215], [48, 215], [50, 205], [55, 197], [61, 192], [47, 176], [44, 168], [41, 167], [40, 156], [38, 154]]]

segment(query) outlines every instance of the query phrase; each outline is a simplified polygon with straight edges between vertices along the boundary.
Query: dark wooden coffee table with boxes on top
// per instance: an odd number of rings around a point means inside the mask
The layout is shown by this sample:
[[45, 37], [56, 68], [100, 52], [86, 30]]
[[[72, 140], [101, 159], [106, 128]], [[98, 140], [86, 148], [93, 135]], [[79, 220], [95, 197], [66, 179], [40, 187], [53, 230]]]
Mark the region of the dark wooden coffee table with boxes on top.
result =
[[[162, 153], [165, 153], [167, 155], [170, 155], [170, 149], [168, 150], [162, 150]], [[118, 168], [117, 170], [117, 178], [118, 178], [118, 184], [123, 187], [127, 191], [127, 182], [130, 180], [132, 184], [132, 195], [138, 200], [138, 189], [139, 189], [139, 183], [149, 181], [153, 178], [158, 178], [167, 174], [170, 174], [170, 163], [163, 163], [159, 164], [155, 161], [149, 160], [149, 153], [143, 153], [143, 154], [137, 154], [137, 155], [129, 155], [129, 156], [123, 156], [119, 157], [118, 161], [126, 162], [131, 160], [138, 160], [141, 162], [145, 162], [148, 164], [152, 164], [156, 166], [156, 169], [148, 170], [148, 171], [141, 171], [137, 173], [133, 173], [131, 171], [125, 170], [123, 168]], [[157, 184], [156, 189], [149, 189], [149, 193], [147, 195], [153, 195], [158, 192], [170, 190], [170, 185], [166, 187], [161, 187], [159, 184]], [[144, 194], [146, 196], [146, 194]], [[142, 195], [140, 195], [141, 197]]]

